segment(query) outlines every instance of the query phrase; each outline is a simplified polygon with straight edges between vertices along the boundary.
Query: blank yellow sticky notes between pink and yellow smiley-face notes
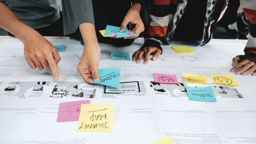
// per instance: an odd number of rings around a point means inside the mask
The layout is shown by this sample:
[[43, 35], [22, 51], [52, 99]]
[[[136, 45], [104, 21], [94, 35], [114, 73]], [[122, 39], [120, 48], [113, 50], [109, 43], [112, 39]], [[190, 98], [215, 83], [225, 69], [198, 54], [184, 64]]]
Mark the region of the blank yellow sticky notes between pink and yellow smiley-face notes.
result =
[[203, 84], [206, 83], [206, 81], [209, 81], [208, 79], [206, 79], [205, 75], [199, 76], [191, 74], [182, 74], [182, 77], [187, 83]]

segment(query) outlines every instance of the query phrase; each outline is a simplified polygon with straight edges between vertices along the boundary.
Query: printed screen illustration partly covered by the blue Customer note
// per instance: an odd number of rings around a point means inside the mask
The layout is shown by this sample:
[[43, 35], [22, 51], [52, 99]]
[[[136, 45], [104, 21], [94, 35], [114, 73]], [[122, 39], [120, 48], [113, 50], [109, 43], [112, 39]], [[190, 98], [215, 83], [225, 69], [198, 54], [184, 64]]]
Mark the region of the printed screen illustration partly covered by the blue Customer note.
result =
[[104, 86], [102, 98], [146, 98], [143, 81], [120, 82], [119, 88]]

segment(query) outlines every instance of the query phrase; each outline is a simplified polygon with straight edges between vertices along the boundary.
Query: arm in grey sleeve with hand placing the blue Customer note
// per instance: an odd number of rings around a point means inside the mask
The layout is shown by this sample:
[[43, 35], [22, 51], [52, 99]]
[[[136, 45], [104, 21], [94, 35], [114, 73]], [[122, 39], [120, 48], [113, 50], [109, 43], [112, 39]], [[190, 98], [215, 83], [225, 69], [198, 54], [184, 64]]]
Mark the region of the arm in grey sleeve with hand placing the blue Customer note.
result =
[[93, 84], [93, 79], [100, 81], [98, 75], [100, 46], [95, 34], [92, 1], [62, 0], [62, 5], [64, 34], [71, 35], [80, 31], [84, 42], [84, 51], [77, 71], [87, 83]]

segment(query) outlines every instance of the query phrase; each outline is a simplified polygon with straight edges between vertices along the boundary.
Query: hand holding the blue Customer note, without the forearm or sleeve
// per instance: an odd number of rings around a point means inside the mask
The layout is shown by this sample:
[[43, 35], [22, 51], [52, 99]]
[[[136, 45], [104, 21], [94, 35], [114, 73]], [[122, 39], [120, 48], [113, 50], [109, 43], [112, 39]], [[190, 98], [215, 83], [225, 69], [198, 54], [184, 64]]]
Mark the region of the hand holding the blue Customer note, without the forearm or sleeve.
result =
[[78, 63], [77, 71], [86, 83], [93, 84], [93, 79], [100, 81], [98, 74], [100, 47], [84, 46], [84, 52]]

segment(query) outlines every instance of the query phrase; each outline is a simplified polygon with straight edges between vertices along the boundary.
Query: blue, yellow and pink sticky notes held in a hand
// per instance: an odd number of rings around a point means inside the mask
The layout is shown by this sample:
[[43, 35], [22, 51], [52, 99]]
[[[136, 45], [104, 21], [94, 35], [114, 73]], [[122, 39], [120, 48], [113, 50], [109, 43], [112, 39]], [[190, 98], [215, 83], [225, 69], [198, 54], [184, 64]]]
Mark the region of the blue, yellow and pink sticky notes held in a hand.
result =
[[136, 34], [133, 34], [130, 31], [128, 31], [127, 27], [125, 28], [123, 33], [119, 32], [120, 29], [121, 27], [107, 25], [106, 29], [99, 30], [99, 31], [103, 37], [122, 38], [122, 37], [137, 36]]

